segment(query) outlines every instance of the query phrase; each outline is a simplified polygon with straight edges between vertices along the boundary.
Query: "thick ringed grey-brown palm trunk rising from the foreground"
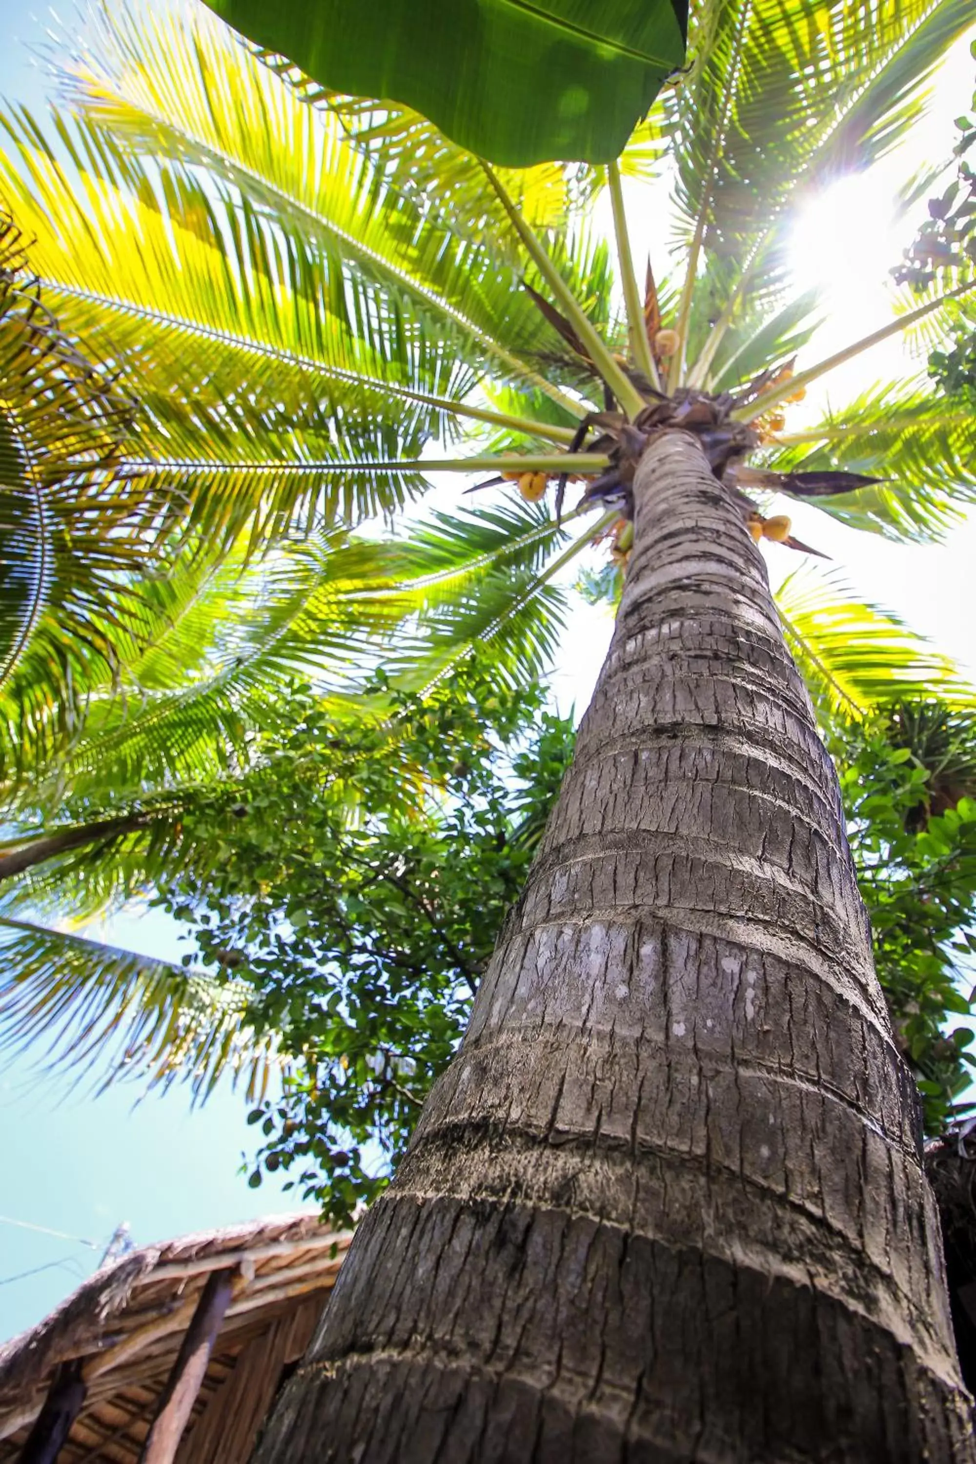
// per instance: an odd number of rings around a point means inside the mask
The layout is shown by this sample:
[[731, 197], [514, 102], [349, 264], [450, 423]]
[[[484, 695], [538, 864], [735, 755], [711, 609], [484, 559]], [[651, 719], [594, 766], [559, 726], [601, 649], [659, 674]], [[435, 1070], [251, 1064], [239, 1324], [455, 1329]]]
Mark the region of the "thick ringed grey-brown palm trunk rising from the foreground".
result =
[[637, 474], [577, 755], [259, 1458], [973, 1460], [913, 1083], [762, 558]]

